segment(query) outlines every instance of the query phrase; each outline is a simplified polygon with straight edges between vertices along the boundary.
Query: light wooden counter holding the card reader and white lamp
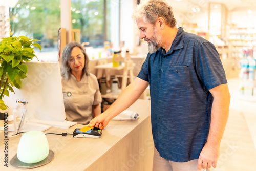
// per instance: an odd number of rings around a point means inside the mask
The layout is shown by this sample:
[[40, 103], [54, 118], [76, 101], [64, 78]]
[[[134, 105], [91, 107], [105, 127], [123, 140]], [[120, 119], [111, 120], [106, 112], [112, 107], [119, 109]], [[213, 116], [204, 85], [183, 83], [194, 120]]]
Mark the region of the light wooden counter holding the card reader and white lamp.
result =
[[[53, 161], [47, 165], [29, 170], [152, 170], [154, 143], [151, 132], [150, 101], [137, 100], [129, 110], [140, 115], [137, 120], [111, 120], [103, 129], [101, 138], [73, 138], [72, 135], [46, 135], [49, 147], [55, 153]], [[3, 122], [3, 121], [2, 121]], [[51, 127], [45, 133], [73, 133], [70, 129]], [[17, 153], [20, 137], [8, 137], [9, 161]], [[0, 133], [1, 142], [4, 132]], [[4, 143], [0, 144], [0, 170], [17, 170], [9, 162], [4, 166]], [[148, 164], [150, 163], [150, 164]]]

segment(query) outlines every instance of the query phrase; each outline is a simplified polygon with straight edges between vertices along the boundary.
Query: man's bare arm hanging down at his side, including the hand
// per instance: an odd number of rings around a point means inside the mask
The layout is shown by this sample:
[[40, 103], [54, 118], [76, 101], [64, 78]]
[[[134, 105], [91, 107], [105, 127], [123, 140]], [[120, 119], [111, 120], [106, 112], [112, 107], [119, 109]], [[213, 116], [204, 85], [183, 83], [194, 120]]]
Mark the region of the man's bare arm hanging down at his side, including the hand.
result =
[[226, 127], [230, 93], [227, 84], [221, 84], [209, 90], [214, 97], [211, 109], [210, 130], [206, 144], [204, 145], [199, 159], [198, 170], [216, 167], [220, 154], [220, 143]]

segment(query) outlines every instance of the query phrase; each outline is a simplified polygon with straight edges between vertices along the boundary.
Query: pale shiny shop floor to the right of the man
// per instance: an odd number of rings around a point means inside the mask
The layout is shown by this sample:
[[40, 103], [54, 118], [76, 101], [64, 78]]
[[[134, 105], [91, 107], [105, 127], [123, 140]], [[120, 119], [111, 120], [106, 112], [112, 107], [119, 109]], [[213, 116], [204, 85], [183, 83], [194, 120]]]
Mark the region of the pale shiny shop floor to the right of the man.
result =
[[256, 162], [256, 102], [240, 100], [239, 78], [228, 79], [229, 119], [220, 148], [218, 171], [254, 171]]

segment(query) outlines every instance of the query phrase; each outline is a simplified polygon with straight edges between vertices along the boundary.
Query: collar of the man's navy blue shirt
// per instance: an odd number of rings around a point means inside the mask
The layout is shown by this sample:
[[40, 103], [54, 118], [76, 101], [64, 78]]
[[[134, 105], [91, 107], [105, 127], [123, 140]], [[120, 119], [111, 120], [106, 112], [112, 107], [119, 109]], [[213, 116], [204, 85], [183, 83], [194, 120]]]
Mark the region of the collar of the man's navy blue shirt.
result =
[[168, 52], [166, 53], [163, 48], [159, 48], [159, 50], [162, 53], [162, 55], [172, 54], [173, 50], [178, 50], [178, 49], [182, 49], [183, 48], [185, 32], [184, 32], [182, 27], [179, 27], [178, 29], [179, 30], [178, 30], [178, 32], [176, 34], [176, 37], [175, 37], [175, 39], [173, 41], [173, 44], [170, 47], [170, 49], [168, 50]]

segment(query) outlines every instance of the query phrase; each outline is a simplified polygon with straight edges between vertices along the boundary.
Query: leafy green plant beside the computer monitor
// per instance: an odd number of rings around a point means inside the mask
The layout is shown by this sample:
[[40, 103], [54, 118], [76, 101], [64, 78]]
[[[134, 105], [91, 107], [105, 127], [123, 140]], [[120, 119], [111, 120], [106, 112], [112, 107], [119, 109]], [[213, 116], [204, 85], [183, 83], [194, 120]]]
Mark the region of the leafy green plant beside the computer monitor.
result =
[[34, 47], [41, 50], [41, 46], [34, 42], [40, 40], [25, 36], [2, 39], [0, 42], [0, 109], [5, 110], [8, 106], [4, 103], [4, 96], [9, 96], [10, 91], [14, 93], [13, 86], [18, 89], [22, 86], [21, 79], [26, 78], [28, 72], [26, 62], [36, 57]]

